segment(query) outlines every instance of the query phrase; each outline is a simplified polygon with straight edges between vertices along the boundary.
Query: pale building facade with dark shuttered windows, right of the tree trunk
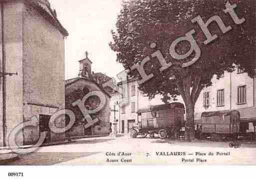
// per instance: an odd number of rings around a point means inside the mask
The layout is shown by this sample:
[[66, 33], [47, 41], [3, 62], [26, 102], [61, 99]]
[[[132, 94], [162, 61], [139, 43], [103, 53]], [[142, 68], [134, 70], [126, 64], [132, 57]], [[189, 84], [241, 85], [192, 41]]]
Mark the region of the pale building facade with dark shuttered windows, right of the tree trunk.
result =
[[254, 132], [256, 126], [256, 79], [248, 76], [243, 69], [225, 72], [213, 85], [202, 90], [195, 105], [195, 120], [202, 112], [238, 110], [241, 132]]

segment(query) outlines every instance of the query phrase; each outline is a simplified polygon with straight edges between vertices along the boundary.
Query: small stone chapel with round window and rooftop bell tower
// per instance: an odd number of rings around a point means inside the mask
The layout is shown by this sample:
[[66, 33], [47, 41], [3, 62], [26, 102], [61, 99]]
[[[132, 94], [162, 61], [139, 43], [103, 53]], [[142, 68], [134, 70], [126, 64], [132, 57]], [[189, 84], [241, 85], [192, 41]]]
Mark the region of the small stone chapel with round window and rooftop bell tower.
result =
[[[107, 91], [98, 84], [92, 77], [91, 64], [92, 62], [88, 58], [79, 61], [80, 70], [77, 78], [69, 79], [65, 81], [65, 107], [71, 109], [75, 113], [75, 124], [67, 131], [66, 136], [87, 136], [87, 135], [102, 135], [110, 133], [109, 125], [109, 113], [110, 107], [109, 102], [111, 96]], [[98, 118], [99, 121], [88, 128], [86, 127], [87, 121], [84, 120], [82, 111], [78, 106], [73, 106], [72, 103], [83, 99], [83, 97], [92, 91], [100, 91], [106, 98], [104, 107], [95, 114], [90, 114], [93, 121]], [[90, 96], [85, 101], [85, 106], [89, 110], [97, 109], [100, 104], [100, 98], [97, 96]]]

